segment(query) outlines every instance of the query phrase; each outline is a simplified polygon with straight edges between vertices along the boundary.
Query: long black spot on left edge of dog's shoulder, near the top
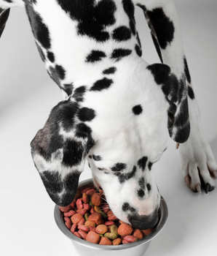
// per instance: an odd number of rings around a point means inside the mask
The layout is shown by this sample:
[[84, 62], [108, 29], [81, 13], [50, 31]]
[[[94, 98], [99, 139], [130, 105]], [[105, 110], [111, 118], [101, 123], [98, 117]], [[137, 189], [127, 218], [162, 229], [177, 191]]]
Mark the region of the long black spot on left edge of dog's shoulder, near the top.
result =
[[28, 2], [25, 3], [26, 12], [28, 14], [28, 19], [31, 23], [31, 29], [33, 31], [34, 37], [41, 43], [42, 47], [45, 49], [50, 48], [50, 32], [47, 26], [44, 24], [42, 17], [33, 10], [33, 7]]

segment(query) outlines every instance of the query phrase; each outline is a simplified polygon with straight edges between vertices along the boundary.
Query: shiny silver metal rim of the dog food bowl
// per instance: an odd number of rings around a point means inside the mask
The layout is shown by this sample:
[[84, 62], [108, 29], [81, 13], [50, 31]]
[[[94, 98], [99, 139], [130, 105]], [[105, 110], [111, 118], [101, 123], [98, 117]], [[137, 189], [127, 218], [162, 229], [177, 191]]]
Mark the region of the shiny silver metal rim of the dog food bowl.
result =
[[[78, 189], [80, 187], [84, 187], [84, 186], [92, 185], [92, 184], [93, 184], [92, 178], [86, 179], [84, 181], [80, 181]], [[64, 224], [63, 218], [61, 217], [60, 208], [57, 205], [55, 205], [54, 217], [55, 217], [56, 224], [58, 225], [59, 229], [63, 232], [63, 234], [65, 236], [67, 236], [69, 239], [71, 239], [72, 241], [74, 241], [76, 244], [80, 244], [82, 246], [87, 246], [89, 248], [97, 249], [97, 250], [110, 250], [110, 251], [112, 250], [113, 251], [113, 250], [129, 249], [131, 247], [138, 246], [140, 244], [146, 244], [149, 241], [151, 241], [155, 236], [157, 236], [162, 231], [162, 228], [165, 226], [165, 224], [167, 222], [168, 208], [167, 208], [167, 203], [165, 202], [165, 199], [162, 196], [160, 199], [160, 212], [161, 212], [161, 214], [160, 214], [160, 219], [159, 219], [158, 225], [148, 236], [146, 236], [145, 238], [142, 238], [141, 240], [130, 243], [130, 244], [119, 244], [116, 246], [92, 244], [88, 241], [85, 241], [81, 238], [74, 236], [74, 234], [71, 233], [70, 230], [68, 230], [68, 228]]]

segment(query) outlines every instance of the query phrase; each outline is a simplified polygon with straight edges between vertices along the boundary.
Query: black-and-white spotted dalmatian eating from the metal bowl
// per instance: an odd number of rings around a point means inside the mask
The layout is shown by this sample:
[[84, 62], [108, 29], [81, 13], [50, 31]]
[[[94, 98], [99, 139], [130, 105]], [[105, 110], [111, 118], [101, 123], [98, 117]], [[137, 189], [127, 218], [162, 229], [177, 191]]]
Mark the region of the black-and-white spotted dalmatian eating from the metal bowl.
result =
[[[114, 215], [153, 227], [160, 194], [151, 169], [168, 138], [178, 143], [186, 185], [199, 193], [215, 188], [217, 165], [202, 135], [173, 0], [0, 0], [1, 33], [13, 6], [25, 7], [42, 61], [63, 92], [31, 141], [58, 206], [74, 200], [87, 161]], [[161, 63], [141, 58], [137, 7]]]

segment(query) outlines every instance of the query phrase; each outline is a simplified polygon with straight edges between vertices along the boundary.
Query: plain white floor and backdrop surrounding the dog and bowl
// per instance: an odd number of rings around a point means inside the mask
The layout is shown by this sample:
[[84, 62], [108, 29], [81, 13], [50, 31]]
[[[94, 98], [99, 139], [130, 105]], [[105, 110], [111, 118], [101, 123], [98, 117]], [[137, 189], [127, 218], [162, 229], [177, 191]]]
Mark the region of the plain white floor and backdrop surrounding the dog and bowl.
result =
[[[217, 2], [176, 2], [202, 127], [217, 159]], [[143, 57], [159, 62], [142, 12], [136, 13]], [[55, 225], [54, 203], [31, 160], [29, 144], [62, 96], [39, 59], [22, 9], [11, 11], [0, 56], [0, 255], [78, 256]], [[169, 218], [146, 256], [216, 256], [217, 189], [197, 195], [186, 187], [172, 140], [154, 172]], [[90, 177], [86, 166], [81, 181]]]

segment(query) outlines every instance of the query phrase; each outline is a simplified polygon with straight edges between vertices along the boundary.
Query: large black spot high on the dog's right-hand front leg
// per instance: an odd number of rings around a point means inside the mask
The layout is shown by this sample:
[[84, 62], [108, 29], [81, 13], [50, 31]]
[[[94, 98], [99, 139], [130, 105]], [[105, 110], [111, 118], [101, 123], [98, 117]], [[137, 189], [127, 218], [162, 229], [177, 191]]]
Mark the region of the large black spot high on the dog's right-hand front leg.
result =
[[175, 28], [173, 22], [165, 15], [162, 8], [156, 8], [152, 11], [147, 11], [146, 14], [149, 16], [151, 25], [157, 35], [160, 48], [165, 50], [167, 45], [173, 41]]

